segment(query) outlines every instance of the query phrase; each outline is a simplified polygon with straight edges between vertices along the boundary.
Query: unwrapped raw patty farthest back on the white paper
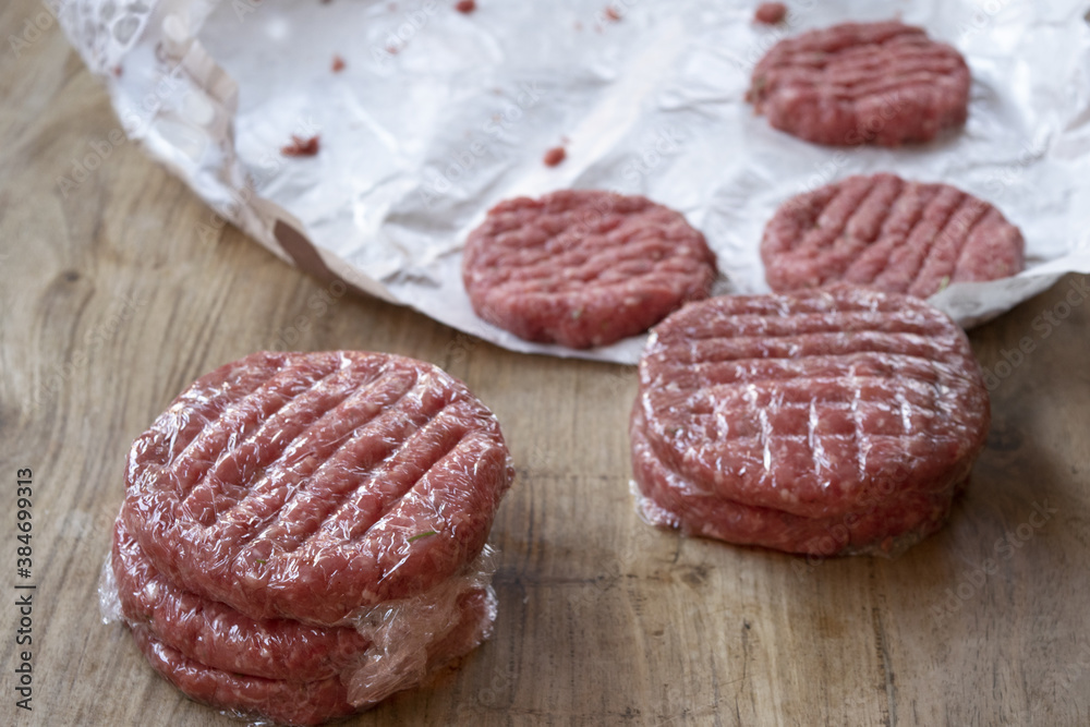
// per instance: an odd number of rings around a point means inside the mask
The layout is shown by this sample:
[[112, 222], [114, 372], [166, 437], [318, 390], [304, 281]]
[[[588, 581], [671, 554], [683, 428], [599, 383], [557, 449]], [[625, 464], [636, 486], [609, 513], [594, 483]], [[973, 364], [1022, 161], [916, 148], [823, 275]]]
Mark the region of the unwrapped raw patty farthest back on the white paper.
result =
[[748, 99], [774, 128], [818, 144], [898, 146], [965, 124], [961, 54], [897, 21], [846, 23], [780, 40]]

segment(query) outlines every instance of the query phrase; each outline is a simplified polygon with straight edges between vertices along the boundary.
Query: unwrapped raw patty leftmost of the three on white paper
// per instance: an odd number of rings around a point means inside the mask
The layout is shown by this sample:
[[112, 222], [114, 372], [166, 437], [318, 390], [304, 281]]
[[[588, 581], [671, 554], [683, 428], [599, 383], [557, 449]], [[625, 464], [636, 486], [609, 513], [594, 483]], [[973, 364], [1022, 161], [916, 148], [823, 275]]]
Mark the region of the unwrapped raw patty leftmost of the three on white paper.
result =
[[582, 349], [706, 298], [715, 256], [679, 213], [645, 197], [565, 190], [493, 207], [465, 242], [462, 279], [488, 323]]

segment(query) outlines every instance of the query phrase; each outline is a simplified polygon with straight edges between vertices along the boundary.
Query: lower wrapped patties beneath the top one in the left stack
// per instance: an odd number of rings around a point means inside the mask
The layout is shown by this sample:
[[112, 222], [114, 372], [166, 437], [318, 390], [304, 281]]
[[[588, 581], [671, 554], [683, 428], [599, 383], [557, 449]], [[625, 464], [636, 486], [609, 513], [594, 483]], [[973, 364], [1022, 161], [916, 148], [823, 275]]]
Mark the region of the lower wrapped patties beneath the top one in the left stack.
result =
[[[245, 719], [318, 724], [371, 707], [479, 646], [497, 613], [487, 547], [461, 573], [380, 604], [352, 627], [247, 619], [162, 579], [128, 578], [132, 565], [116, 538], [99, 582], [104, 621], [126, 623], [153, 667], [187, 695]], [[143, 589], [121, 592], [119, 583]], [[148, 601], [158, 607], [142, 608]]]

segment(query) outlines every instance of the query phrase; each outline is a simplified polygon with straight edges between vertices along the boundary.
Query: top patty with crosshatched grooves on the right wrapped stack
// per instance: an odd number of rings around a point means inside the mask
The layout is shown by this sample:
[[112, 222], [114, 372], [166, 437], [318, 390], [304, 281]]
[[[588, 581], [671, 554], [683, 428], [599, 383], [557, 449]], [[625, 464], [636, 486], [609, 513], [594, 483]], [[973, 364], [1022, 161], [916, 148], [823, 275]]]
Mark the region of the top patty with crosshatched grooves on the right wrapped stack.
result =
[[983, 441], [964, 332], [922, 302], [851, 287], [690, 305], [653, 332], [637, 407], [656, 455], [716, 495], [804, 517], [852, 509], [884, 470], [903, 489]]

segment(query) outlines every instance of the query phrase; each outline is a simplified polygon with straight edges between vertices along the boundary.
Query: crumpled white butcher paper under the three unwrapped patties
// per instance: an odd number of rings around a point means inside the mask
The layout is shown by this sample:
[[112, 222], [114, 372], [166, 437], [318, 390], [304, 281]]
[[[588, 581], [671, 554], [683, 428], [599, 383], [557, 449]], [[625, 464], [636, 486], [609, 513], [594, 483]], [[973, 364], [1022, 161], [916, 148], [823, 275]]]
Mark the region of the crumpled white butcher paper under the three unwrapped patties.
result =
[[[799, 0], [776, 27], [752, 22], [756, 0], [477, 4], [61, 0], [59, 17], [126, 133], [215, 210], [196, 233], [229, 219], [312, 272], [518, 351], [632, 363], [643, 346], [538, 346], [473, 314], [467, 233], [502, 198], [560, 187], [682, 211], [718, 256], [719, 292], [767, 290], [758, 244], [784, 199], [875, 171], [954, 184], [1022, 229], [1020, 276], [932, 298], [962, 325], [1090, 272], [1087, 2]], [[744, 93], [773, 43], [892, 16], [966, 56], [965, 130], [837, 149], [753, 116]], [[281, 155], [292, 135], [318, 135], [319, 154]], [[545, 167], [560, 144], [567, 160]]]

